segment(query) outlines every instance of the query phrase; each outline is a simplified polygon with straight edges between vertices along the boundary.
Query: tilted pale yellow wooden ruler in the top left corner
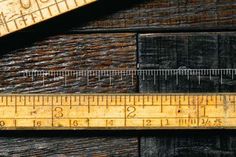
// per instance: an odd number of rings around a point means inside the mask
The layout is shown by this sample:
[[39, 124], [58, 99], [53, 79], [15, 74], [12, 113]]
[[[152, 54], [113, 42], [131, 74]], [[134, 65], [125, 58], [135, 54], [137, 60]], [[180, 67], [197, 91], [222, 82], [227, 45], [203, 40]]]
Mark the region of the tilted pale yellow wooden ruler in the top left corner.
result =
[[0, 0], [0, 37], [96, 0]]

